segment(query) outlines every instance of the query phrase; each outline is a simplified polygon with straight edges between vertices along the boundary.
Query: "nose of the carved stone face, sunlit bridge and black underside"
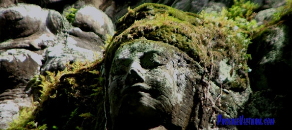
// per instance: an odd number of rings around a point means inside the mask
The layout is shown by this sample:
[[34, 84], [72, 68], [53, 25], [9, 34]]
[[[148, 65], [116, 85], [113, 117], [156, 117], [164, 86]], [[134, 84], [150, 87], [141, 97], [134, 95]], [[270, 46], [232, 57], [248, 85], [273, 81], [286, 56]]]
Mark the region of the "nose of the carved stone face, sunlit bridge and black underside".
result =
[[127, 83], [129, 83], [129, 85], [133, 85], [138, 82], [144, 82], [145, 78], [142, 75], [144, 71], [145, 70], [141, 67], [139, 63], [133, 62], [131, 64], [131, 68], [129, 70], [128, 76], [126, 78]]

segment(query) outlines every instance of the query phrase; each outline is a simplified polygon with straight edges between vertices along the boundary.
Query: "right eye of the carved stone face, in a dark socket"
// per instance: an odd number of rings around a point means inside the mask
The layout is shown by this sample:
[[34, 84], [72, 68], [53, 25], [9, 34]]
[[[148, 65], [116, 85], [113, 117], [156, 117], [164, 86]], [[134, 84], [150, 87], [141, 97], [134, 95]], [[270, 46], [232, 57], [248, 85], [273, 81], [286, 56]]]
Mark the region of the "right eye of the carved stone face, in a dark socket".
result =
[[141, 66], [145, 69], [154, 69], [158, 66], [166, 65], [167, 61], [167, 56], [157, 51], [145, 52], [140, 57]]

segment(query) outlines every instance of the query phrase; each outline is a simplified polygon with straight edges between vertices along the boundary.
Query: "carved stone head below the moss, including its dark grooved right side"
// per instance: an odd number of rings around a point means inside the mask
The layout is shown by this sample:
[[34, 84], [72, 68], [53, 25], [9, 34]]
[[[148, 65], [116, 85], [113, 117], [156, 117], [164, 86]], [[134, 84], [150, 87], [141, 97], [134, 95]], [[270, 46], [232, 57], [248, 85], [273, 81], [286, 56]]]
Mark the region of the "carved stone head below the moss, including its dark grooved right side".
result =
[[123, 44], [109, 73], [112, 129], [186, 128], [200, 70], [171, 45], [149, 40]]

